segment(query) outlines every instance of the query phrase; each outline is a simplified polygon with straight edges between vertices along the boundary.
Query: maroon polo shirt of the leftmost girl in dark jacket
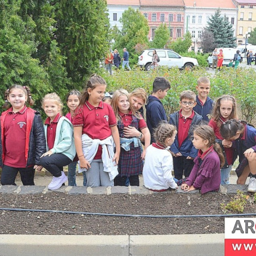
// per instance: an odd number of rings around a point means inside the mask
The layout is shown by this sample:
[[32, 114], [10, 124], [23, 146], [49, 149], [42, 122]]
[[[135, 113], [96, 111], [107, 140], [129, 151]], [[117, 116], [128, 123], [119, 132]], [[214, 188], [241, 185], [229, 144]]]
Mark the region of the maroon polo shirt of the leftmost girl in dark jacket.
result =
[[16, 168], [26, 168], [26, 118], [27, 106], [17, 113], [7, 113], [4, 122], [5, 160], [4, 164]]

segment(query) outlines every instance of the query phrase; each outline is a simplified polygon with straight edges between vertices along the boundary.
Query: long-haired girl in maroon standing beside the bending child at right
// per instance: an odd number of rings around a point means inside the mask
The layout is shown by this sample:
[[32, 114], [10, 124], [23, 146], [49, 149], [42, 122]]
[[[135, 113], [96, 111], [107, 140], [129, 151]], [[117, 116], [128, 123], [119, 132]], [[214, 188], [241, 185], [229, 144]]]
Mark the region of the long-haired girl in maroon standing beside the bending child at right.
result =
[[220, 134], [220, 127], [222, 123], [229, 119], [237, 118], [237, 102], [231, 95], [222, 95], [216, 100], [214, 109], [212, 110], [211, 119], [208, 125], [214, 130], [216, 142], [222, 148], [225, 164], [221, 168], [221, 185], [229, 184], [230, 171], [233, 164], [232, 143], [222, 138]]

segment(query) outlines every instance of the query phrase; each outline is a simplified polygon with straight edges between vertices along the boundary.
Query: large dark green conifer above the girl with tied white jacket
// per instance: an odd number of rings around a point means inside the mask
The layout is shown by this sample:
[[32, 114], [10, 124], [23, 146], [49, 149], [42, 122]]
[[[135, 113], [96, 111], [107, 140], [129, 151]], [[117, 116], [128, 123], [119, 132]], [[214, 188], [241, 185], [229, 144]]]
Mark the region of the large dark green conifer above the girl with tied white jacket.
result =
[[[109, 47], [109, 19], [105, 0], [24, 0], [22, 15], [32, 17], [36, 41], [39, 42], [35, 56], [42, 65], [49, 64], [55, 56], [58, 63], [56, 79], [67, 89], [80, 88], [84, 80], [99, 66]], [[49, 54], [49, 51], [53, 51]], [[53, 59], [52, 59], [53, 60]], [[50, 60], [50, 63], [52, 63]], [[47, 67], [49, 70], [49, 68]], [[67, 73], [66, 73], [67, 72]], [[70, 83], [71, 80], [71, 83]], [[63, 84], [62, 82], [65, 82]]]

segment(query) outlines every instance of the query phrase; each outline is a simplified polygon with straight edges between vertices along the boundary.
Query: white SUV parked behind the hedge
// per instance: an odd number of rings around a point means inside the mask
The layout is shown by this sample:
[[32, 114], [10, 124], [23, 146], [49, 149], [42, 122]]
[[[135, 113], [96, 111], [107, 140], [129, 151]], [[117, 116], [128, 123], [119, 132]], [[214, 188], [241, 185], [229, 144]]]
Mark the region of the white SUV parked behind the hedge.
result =
[[158, 62], [159, 66], [167, 66], [168, 68], [178, 67], [179, 69], [183, 68], [193, 68], [198, 66], [198, 61], [195, 58], [182, 57], [178, 53], [170, 49], [147, 49], [144, 50], [140, 56], [138, 65], [145, 70], [150, 70], [153, 51], [157, 51], [160, 61]]

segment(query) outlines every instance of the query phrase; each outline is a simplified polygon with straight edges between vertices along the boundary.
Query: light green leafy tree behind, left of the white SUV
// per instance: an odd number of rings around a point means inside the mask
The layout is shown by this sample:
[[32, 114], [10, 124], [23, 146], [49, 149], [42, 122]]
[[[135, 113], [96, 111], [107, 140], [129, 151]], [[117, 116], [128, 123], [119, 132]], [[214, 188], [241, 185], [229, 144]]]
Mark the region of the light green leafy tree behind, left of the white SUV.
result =
[[118, 49], [121, 53], [124, 47], [130, 53], [131, 64], [137, 63], [138, 55], [135, 53], [135, 46], [137, 44], [147, 45], [148, 44], [148, 27], [147, 20], [140, 13], [139, 10], [134, 10], [129, 7], [125, 10], [120, 18], [122, 29], [118, 33], [113, 48]]

